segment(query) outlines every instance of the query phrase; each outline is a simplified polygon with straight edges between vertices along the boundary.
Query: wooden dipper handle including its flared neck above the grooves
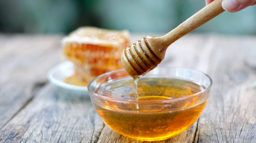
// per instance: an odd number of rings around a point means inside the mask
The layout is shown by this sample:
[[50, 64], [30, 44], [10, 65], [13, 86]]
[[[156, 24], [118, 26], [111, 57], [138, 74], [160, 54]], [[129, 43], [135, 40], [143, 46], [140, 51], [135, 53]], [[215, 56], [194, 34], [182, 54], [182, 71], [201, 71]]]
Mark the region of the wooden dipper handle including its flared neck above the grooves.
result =
[[221, 3], [222, 0], [214, 0], [162, 37], [147, 36], [150, 47], [155, 48], [154, 53], [163, 60], [166, 49], [173, 42], [221, 14], [224, 11]]

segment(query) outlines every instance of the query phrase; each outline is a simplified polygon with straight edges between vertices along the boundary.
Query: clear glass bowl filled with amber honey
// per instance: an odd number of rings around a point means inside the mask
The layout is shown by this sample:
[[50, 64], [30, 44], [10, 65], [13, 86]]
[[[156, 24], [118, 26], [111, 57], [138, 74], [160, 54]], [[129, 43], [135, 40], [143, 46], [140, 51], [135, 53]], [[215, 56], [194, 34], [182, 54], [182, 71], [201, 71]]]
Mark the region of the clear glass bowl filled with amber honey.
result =
[[101, 119], [117, 133], [136, 140], [163, 140], [180, 134], [199, 118], [209, 98], [211, 78], [200, 71], [157, 67], [138, 80], [124, 69], [88, 85]]

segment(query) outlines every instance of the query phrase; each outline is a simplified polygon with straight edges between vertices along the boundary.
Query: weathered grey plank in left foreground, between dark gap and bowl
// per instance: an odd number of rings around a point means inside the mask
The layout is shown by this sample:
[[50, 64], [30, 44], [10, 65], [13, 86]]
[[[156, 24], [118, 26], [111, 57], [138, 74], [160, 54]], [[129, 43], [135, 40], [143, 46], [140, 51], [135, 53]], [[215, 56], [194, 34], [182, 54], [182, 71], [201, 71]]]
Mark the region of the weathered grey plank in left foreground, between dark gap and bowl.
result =
[[0, 142], [91, 142], [97, 140], [103, 121], [89, 97], [70, 94], [52, 84], [1, 130]]

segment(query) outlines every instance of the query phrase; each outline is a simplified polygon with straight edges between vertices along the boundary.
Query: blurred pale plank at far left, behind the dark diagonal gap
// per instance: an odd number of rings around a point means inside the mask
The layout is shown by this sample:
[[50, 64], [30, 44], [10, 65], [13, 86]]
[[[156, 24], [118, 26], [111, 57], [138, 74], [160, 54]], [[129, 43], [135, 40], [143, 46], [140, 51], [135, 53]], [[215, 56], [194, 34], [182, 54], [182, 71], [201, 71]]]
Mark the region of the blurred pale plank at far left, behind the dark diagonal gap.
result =
[[61, 35], [0, 35], [0, 129], [47, 83], [60, 61]]

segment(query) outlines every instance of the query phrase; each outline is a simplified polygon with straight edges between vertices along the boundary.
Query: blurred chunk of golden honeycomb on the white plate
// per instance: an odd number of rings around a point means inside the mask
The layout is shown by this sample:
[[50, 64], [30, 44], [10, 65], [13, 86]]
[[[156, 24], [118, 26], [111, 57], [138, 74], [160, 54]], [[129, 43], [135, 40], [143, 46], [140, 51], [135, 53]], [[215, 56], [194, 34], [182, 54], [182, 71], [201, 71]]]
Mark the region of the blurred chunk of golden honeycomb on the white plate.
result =
[[74, 63], [75, 76], [88, 84], [100, 74], [123, 68], [120, 57], [130, 45], [129, 32], [80, 27], [62, 44], [64, 55]]

